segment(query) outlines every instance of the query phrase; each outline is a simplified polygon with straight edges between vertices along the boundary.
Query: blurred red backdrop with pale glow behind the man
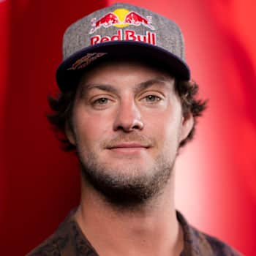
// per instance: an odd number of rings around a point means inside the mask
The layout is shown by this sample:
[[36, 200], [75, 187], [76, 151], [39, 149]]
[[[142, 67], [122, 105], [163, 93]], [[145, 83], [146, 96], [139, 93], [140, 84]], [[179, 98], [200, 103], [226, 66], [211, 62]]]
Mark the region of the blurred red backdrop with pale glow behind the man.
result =
[[[25, 255], [78, 204], [78, 165], [50, 131], [46, 97], [57, 91], [64, 29], [113, 2], [0, 0], [1, 255]], [[255, 255], [255, 1], [127, 2], [181, 26], [192, 78], [209, 99], [195, 141], [178, 158], [177, 208]]]

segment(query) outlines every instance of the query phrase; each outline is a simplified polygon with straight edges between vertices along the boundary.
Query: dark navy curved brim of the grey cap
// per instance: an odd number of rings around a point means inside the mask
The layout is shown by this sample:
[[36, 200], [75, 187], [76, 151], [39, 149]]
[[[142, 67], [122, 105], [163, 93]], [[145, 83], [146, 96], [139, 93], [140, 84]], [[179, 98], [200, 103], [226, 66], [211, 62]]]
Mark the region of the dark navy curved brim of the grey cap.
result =
[[[83, 48], [69, 56], [59, 65], [56, 71], [56, 80], [61, 91], [69, 91], [76, 88], [80, 75], [83, 74], [87, 66], [81, 69], [71, 69], [71, 67], [78, 59], [86, 56], [87, 53], [107, 53], [105, 54], [106, 57], [145, 56], [152, 63], [156, 62], [165, 65], [166, 69], [170, 69], [170, 73], [175, 75], [176, 78], [181, 80], [190, 79], [190, 71], [187, 64], [165, 49], [144, 42], [110, 41]], [[105, 56], [100, 57], [100, 59]]]

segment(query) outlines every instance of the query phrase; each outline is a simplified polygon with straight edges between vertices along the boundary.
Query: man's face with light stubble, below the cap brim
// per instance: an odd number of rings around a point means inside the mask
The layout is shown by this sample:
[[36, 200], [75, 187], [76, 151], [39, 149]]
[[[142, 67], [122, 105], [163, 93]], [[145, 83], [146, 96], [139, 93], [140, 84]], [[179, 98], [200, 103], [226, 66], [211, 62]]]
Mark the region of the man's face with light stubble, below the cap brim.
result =
[[192, 127], [174, 83], [136, 61], [108, 61], [80, 80], [67, 136], [86, 180], [112, 203], [143, 203], [167, 184]]

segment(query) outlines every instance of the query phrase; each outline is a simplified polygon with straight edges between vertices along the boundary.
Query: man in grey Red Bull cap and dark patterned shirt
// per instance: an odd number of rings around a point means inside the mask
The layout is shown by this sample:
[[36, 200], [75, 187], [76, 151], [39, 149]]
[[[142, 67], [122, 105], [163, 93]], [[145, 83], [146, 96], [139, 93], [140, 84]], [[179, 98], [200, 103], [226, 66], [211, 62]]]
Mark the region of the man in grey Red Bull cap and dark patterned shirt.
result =
[[80, 161], [80, 206], [29, 255], [239, 255], [175, 210], [174, 165], [195, 99], [171, 20], [114, 4], [69, 26], [49, 116]]

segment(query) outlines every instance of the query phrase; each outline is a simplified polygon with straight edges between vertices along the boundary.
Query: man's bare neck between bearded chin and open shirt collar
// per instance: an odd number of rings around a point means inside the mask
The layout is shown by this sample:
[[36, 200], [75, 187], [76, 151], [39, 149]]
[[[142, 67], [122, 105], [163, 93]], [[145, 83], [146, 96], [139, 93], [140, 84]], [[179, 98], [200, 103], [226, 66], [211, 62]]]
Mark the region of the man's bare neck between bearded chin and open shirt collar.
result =
[[82, 184], [75, 219], [99, 255], [179, 255], [183, 233], [174, 206], [174, 176], [165, 191], [143, 207], [124, 211]]

